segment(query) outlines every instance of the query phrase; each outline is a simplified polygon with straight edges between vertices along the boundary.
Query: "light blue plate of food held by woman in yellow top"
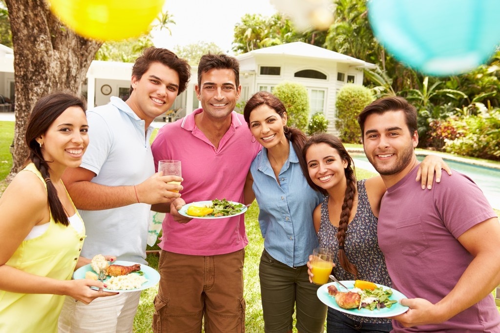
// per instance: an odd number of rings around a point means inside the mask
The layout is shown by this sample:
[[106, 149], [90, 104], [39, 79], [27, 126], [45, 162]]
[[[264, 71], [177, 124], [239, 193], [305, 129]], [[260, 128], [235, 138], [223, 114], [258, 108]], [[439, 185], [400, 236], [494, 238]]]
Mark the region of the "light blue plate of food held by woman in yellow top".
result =
[[159, 273], [147, 265], [121, 260], [109, 264], [101, 255], [93, 257], [90, 264], [74, 271], [73, 279], [97, 280], [100, 270], [105, 272], [104, 283], [107, 288], [102, 289], [105, 292], [135, 292], [151, 288], [159, 281]]

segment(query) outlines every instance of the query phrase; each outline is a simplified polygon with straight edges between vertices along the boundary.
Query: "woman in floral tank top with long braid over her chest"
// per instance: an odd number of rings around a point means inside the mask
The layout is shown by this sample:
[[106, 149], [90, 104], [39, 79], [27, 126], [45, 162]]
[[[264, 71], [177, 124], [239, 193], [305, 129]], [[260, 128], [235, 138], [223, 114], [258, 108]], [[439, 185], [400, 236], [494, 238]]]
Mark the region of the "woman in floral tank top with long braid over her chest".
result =
[[[333, 135], [310, 137], [302, 156], [308, 184], [325, 195], [314, 210], [313, 222], [319, 246], [338, 253], [332, 274], [338, 280], [358, 279], [391, 287], [377, 242], [377, 216], [386, 190], [382, 179], [377, 176], [356, 182], [352, 159]], [[429, 170], [433, 170], [432, 164], [442, 164], [442, 160], [430, 163]], [[389, 319], [353, 316], [328, 308], [327, 333], [391, 330]]]

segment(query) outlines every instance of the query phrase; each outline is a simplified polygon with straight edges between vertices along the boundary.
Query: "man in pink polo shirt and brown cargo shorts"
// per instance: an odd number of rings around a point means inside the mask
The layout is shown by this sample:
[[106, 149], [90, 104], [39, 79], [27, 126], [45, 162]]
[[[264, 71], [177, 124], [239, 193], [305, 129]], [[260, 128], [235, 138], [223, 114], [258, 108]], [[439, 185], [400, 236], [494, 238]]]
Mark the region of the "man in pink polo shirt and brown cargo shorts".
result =
[[239, 98], [239, 64], [224, 54], [205, 54], [198, 66], [196, 95], [201, 108], [163, 126], [151, 145], [154, 162], [182, 162], [181, 198], [163, 220], [160, 284], [153, 330], [159, 332], [243, 332], [244, 215], [216, 221], [187, 219], [185, 203], [213, 199], [243, 202], [250, 163], [260, 150], [251, 142]]

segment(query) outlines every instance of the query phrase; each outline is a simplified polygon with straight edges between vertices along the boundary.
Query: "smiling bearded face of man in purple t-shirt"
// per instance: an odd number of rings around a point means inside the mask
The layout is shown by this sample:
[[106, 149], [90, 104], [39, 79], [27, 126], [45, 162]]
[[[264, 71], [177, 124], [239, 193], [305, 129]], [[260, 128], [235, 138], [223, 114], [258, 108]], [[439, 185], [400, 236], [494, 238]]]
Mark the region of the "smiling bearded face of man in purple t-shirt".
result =
[[382, 177], [406, 175], [416, 162], [414, 148], [417, 144], [418, 134], [416, 131], [410, 133], [403, 111], [373, 113], [366, 117], [364, 153]]

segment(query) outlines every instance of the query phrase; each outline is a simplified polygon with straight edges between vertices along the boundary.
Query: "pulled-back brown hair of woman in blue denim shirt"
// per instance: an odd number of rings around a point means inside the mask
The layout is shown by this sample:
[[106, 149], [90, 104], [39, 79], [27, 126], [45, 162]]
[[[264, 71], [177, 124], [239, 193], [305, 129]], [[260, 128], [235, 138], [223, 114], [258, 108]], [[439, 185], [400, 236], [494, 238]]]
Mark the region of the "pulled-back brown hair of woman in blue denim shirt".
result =
[[[279, 100], [279, 98], [277, 98], [270, 92], [259, 91], [254, 93], [253, 96], [250, 97], [250, 99], [246, 102], [245, 107], [243, 109], [243, 117], [245, 118], [248, 128], [250, 128], [251, 111], [253, 111], [256, 107], [262, 104], [265, 104], [274, 111], [276, 111], [276, 113], [281, 118], [284, 117], [283, 114], [286, 112], [286, 109], [283, 103]], [[283, 126], [283, 132], [286, 139], [288, 139], [288, 141], [291, 142], [295, 154], [297, 154], [298, 158], [300, 159], [300, 156], [302, 154], [302, 147], [304, 146], [307, 137], [298, 128], [288, 127], [286, 125]]]

